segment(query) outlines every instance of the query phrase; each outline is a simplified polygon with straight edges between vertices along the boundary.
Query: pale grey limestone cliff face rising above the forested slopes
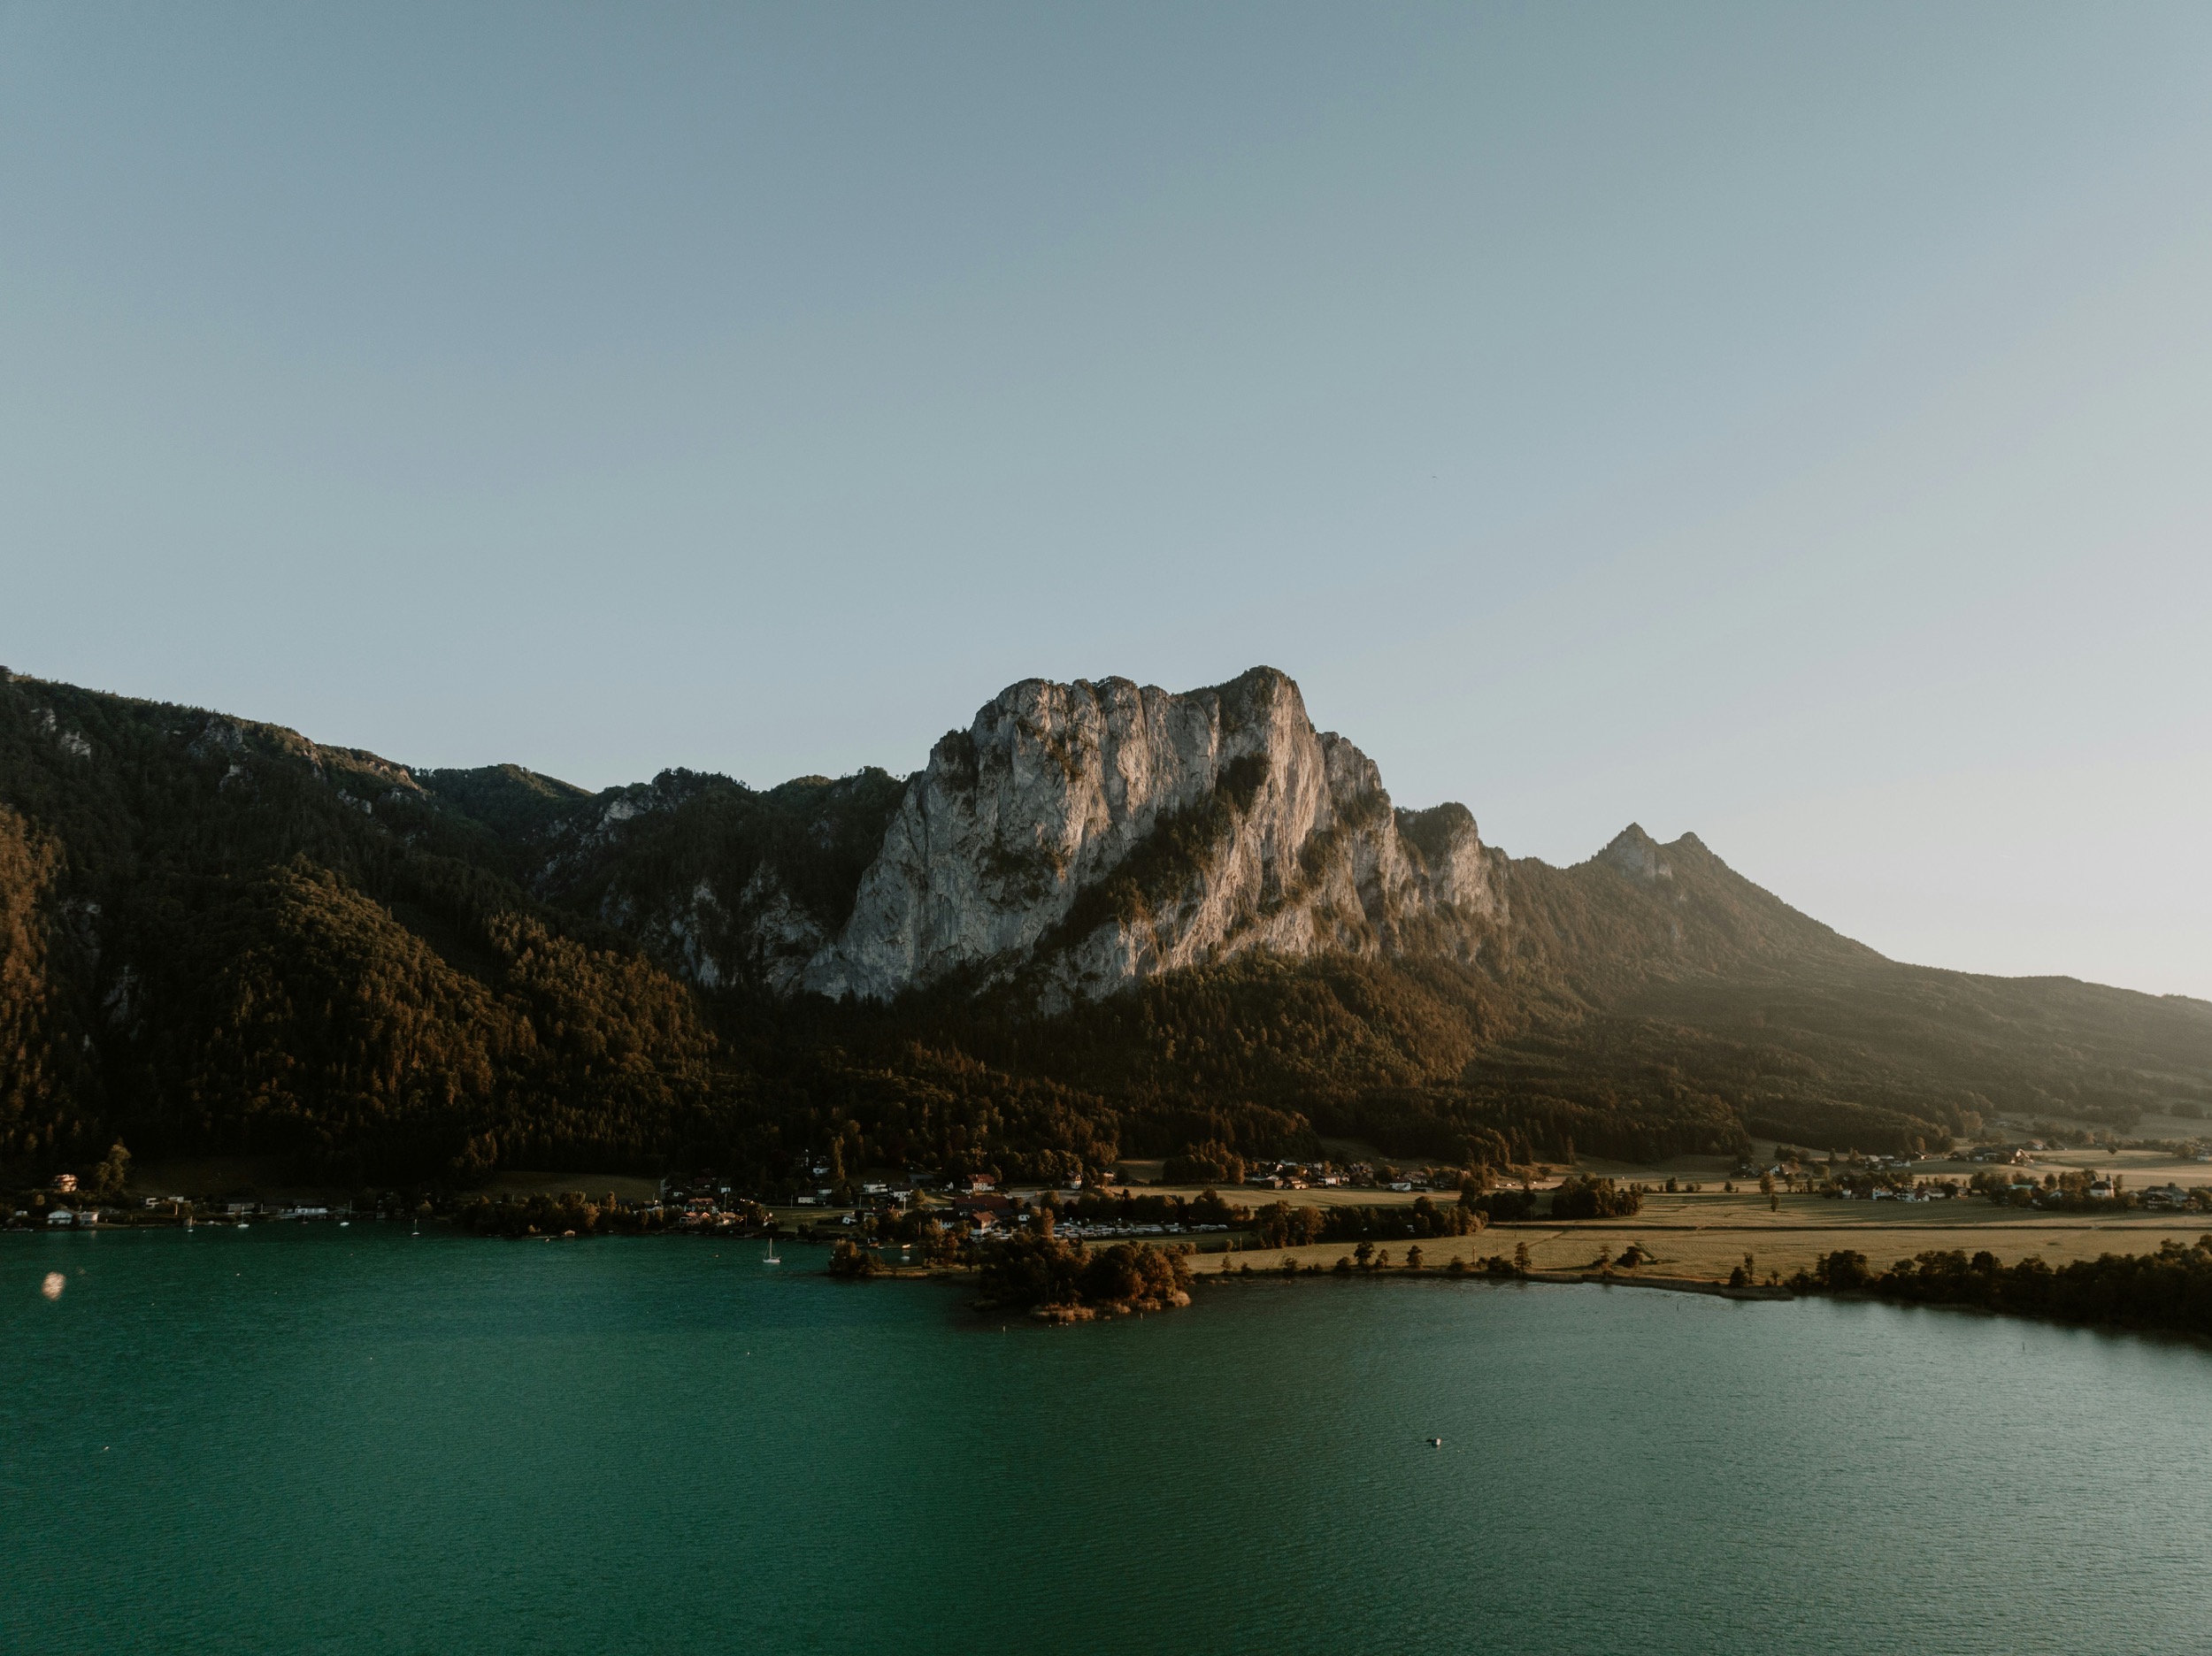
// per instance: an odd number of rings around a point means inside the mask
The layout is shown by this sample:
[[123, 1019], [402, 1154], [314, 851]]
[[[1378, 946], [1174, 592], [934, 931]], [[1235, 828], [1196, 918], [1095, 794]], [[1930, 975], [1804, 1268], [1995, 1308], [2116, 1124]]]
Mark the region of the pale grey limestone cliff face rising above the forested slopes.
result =
[[1502, 920], [1473, 816], [1396, 811], [1285, 674], [1186, 694], [1026, 679], [907, 783], [801, 984], [889, 999], [1031, 973], [1066, 1004], [1248, 948], [1471, 960]]

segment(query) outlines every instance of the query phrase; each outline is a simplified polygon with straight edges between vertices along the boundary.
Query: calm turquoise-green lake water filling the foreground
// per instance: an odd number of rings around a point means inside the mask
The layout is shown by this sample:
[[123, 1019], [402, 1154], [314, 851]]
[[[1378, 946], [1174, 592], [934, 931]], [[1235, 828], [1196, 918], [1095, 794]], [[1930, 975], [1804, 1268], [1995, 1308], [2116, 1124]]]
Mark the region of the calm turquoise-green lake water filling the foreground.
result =
[[2201, 1346], [1336, 1280], [1002, 1333], [787, 1249], [0, 1236], [0, 1647], [2212, 1647]]

